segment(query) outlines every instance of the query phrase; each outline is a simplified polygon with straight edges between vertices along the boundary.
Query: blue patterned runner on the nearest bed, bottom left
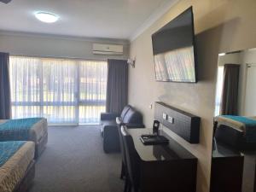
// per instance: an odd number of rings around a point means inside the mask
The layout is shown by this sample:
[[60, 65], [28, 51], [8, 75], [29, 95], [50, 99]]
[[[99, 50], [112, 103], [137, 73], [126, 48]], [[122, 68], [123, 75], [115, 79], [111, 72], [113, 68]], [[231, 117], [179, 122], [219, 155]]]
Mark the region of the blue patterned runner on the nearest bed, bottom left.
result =
[[0, 167], [11, 158], [23, 145], [24, 141], [0, 142]]

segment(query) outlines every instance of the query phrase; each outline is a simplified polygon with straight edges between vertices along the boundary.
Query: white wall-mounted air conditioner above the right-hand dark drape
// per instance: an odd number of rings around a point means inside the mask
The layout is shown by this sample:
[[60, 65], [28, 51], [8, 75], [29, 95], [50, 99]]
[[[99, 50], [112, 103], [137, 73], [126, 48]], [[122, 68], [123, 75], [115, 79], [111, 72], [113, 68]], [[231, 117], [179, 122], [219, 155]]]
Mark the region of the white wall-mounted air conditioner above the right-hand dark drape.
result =
[[96, 55], [123, 55], [124, 47], [119, 44], [92, 44], [92, 52]]

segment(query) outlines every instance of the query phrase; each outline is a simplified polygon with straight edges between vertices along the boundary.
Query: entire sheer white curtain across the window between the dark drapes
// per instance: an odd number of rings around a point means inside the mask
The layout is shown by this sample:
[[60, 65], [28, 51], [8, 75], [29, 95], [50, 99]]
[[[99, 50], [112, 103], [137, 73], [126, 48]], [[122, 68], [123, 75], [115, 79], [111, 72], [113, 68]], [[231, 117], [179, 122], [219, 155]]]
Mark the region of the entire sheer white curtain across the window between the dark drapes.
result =
[[98, 123], [105, 111], [107, 73], [106, 61], [10, 56], [13, 118]]

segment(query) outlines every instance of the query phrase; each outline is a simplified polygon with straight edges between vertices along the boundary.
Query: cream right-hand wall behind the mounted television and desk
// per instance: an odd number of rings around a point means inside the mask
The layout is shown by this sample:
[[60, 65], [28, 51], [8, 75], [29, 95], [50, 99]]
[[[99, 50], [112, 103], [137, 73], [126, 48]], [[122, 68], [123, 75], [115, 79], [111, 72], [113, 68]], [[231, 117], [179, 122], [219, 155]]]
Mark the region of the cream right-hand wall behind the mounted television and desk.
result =
[[[151, 35], [190, 6], [193, 6], [195, 17], [199, 82], [156, 82]], [[218, 53], [256, 46], [255, 9], [255, 0], [180, 0], [131, 42], [131, 58], [136, 57], [137, 61], [136, 67], [129, 69], [129, 102], [143, 113], [145, 125], [152, 126], [154, 108], [148, 105], [156, 101], [201, 117], [199, 144], [189, 144], [169, 131], [198, 158], [198, 192], [207, 192], [210, 187]]]

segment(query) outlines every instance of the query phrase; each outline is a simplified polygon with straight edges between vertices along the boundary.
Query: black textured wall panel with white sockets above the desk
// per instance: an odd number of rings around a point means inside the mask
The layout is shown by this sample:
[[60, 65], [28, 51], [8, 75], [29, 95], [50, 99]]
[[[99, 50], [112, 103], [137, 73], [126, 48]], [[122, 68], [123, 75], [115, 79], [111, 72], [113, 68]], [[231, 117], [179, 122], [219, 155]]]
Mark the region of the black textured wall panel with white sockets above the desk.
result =
[[189, 143], [199, 143], [201, 118], [173, 108], [163, 102], [155, 102], [154, 119], [159, 120], [179, 137]]

